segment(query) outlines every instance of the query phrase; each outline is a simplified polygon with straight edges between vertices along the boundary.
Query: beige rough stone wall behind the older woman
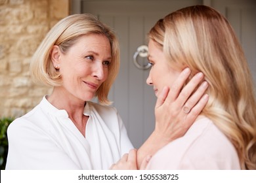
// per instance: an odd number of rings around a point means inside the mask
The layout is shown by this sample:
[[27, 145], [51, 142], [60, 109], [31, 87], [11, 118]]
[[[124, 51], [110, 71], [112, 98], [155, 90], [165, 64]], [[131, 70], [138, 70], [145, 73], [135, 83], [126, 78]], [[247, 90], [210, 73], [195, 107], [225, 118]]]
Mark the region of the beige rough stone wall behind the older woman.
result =
[[0, 0], [0, 118], [31, 110], [51, 88], [30, 80], [30, 59], [69, 0]]

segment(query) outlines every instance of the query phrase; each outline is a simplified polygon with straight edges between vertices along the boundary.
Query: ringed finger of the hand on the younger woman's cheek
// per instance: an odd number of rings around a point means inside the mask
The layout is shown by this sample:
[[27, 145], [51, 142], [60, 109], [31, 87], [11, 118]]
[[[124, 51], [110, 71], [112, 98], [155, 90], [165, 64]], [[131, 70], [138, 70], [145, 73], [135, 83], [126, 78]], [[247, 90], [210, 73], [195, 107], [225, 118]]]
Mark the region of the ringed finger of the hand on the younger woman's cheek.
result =
[[186, 103], [184, 104], [184, 107], [193, 108], [194, 105], [196, 105], [196, 103], [198, 103], [198, 101], [202, 98], [208, 86], [209, 84], [206, 81], [202, 82], [198, 90], [196, 90], [196, 92], [194, 92], [190, 96], [190, 98], [186, 101]]

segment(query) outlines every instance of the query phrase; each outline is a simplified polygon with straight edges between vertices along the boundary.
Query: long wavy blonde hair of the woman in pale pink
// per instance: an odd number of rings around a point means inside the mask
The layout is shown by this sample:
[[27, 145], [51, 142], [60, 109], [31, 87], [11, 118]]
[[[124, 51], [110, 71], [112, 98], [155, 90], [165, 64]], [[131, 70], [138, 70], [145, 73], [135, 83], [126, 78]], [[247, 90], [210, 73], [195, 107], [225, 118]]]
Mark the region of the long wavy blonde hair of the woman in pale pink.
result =
[[203, 5], [159, 20], [149, 38], [172, 65], [202, 72], [209, 101], [202, 114], [234, 144], [242, 169], [256, 169], [256, 103], [253, 80], [240, 42], [226, 18]]

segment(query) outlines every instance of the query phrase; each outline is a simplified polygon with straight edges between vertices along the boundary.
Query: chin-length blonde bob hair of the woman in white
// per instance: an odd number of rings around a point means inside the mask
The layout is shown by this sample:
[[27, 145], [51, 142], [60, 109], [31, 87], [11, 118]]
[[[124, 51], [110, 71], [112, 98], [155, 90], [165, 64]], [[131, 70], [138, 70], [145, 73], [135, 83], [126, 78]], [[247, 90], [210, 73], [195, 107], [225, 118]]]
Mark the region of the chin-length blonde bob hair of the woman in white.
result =
[[30, 64], [30, 75], [33, 81], [48, 86], [61, 86], [62, 77], [51, 61], [53, 46], [60, 46], [62, 52], [65, 53], [79, 37], [91, 34], [104, 35], [110, 41], [112, 61], [108, 66], [108, 78], [95, 93], [95, 97], [98, 97], [101, 104], [110, 104], [108, 92], [119, 71], [119, 43], [114, 31], [91, 14], [70, 15], [60, 20], [47, 33], [45, 39], [35, 51]]

